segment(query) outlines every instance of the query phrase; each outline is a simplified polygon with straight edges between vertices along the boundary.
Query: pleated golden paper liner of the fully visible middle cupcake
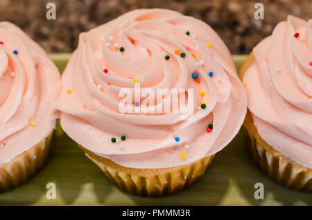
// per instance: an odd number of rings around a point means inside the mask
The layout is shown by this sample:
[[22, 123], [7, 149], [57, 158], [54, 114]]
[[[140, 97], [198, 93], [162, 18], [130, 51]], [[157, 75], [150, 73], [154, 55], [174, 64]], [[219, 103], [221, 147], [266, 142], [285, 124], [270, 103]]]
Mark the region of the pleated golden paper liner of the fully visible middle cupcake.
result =
[[161, 169], [136, 169], [117, 165], [79, 146], [105, 176], [124, 192], [139, 196], [165, 196], [191, 185], [211, 164], [215, 154], [194, 163]]

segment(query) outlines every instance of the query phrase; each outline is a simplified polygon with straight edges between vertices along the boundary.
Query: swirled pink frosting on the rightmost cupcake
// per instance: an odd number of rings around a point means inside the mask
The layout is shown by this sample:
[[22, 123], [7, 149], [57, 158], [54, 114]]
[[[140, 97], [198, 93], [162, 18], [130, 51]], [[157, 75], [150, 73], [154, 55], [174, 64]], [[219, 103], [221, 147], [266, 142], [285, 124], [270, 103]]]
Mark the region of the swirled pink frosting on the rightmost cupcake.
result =
[[259, 135], [312, 167], [312, 20], [288, 16], [253, 54], [243, 82]]

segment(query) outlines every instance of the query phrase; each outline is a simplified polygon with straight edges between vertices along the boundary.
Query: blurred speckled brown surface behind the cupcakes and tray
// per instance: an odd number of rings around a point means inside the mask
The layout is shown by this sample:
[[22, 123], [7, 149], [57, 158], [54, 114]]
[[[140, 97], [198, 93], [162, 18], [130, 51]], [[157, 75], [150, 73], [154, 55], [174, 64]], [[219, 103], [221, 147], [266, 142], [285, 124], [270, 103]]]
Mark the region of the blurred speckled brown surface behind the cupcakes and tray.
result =
[[[46, 19], [46, 3], [56, 4], [56, 20]], [[264, 20], [254, 19], [254, 4]], [[312, 0], [0, 0], [0, 21], [21, 27], [48, 53], [72, 52], [78, 34], [136, 8], [168, 8], [209, 24], [235, 54], [250, 53], [288, 14], [312, 19]]]

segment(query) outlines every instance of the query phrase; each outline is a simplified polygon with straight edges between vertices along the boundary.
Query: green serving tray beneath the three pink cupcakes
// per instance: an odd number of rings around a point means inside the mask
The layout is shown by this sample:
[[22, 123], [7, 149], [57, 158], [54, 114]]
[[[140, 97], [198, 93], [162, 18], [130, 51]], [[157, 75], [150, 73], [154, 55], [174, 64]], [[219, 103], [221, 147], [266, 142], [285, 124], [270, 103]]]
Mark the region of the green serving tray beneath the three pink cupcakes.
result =
[[[70, 54], [51, 54], [60, 72]], [[236, 68], [245, 55], [234, 55]], [[0, 205], [312, 205], [309, 193], [288, 190], [274, 183], [254, 165], [243, 133], [216, 154], [202, 178], [171, 196], [132, 196], [112, 185], [57, 126], [51, 155], [31, 181], [0, 194]], [[55, 183], [56, 199], [46, 199], [47, 183]], [[263, 183], [264, 199], [254, 199], [255, 183]]]

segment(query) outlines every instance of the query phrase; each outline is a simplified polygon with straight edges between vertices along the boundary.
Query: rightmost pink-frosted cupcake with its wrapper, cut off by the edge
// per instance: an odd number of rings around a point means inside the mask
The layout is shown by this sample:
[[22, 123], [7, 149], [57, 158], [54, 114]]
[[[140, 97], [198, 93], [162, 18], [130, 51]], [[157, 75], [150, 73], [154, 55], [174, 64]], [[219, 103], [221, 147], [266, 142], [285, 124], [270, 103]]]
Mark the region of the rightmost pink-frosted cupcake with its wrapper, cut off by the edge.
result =
[[270, 178], [312, 190], [312, 20], [288, 16], [254, 47], [240, 73], [244, 127], [254, 161]]

